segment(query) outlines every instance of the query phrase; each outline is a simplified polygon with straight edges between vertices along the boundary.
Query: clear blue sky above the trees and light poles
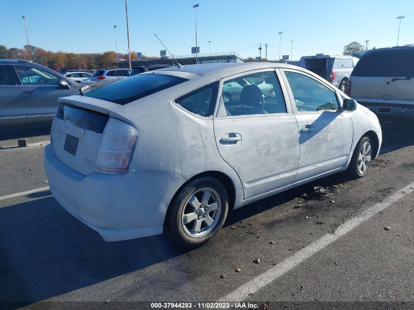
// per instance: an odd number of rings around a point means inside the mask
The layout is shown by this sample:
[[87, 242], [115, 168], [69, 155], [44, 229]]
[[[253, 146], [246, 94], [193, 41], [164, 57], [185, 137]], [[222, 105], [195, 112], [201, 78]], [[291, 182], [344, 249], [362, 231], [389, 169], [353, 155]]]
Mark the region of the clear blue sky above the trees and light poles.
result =
[[[1, 3], [2, 2], [2, 3]], [[5, 3], [10, 4], [5, 4]], [[0, 44], [22, 48], [26, 44], [24, 21], [30, 45], [52, 51], [127, 51], [124, 0], [0, 0], [2, 30]], [[341, 54], [351, 41], [369, 47], [394, 46], [399, 15], [399, 44], [414, 43], [412, 0], [128, 0], [131, 49], [157, 56], [167, 48], [177, 55], [191, 53], [195, 46], [195, 12], [200, 53], [236, 51], [244, 57], [258, 56], [258, 45], [268, 43], [268, 58], [279, 57], [279, 31], [283, 31], [281, 53], [293, 59], [315, 53]], [[262, 49], [264, 57], [265, 48]]]

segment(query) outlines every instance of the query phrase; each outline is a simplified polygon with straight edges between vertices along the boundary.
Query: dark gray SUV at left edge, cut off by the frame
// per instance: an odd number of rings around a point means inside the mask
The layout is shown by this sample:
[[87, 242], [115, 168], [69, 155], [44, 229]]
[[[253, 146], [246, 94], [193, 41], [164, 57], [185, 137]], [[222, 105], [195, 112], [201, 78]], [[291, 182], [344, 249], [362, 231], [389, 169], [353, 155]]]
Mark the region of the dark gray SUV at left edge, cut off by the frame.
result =
[[48, 67], [0, 59], [0, 127], [51, 123], [57, 98], [79, 93], [75, 84]]

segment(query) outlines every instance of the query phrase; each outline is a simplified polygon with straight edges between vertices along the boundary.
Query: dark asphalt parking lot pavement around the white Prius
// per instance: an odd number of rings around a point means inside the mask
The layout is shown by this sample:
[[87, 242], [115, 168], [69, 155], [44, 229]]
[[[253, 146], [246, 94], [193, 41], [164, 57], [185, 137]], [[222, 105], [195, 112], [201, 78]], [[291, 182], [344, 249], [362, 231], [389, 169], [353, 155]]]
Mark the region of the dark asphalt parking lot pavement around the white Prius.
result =
[[[414, 309], [414, 124], [382, 127], [381, 154], [364, 178], [337, 174], [236, 210], [194, 250], [163, 236], [103, 241], [46, 188], [47, 128], [0, 130], [0, 309], [150, 309], [151, 302], [178, 301], [201, 309], [198, 302], [238, 294], [227, 300], [233, 308], [243, 299], [244, 309]], [[14, 147], [24, 135], [33, 138], [29, 146]]]

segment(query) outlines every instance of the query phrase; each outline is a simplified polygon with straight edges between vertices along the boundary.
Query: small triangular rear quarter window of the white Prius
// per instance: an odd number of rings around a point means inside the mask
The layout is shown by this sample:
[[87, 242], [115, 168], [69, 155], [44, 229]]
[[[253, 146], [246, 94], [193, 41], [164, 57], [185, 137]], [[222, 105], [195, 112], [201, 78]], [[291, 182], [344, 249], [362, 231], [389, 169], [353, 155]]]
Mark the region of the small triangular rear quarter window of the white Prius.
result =
[[213, 115], [218, 93], [219, 81], [175, 99], [175, 102], [190, 112], [209, 117]]

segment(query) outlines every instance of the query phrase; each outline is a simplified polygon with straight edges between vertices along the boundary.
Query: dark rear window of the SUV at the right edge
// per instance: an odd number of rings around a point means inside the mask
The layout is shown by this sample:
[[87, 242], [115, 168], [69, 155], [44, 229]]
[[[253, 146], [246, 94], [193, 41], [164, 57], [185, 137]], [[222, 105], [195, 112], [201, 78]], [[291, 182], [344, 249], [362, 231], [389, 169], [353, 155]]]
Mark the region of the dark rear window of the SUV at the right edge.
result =
[[414, 77], [414, 48], [390, 48], [365, 54], [353, 76]]

